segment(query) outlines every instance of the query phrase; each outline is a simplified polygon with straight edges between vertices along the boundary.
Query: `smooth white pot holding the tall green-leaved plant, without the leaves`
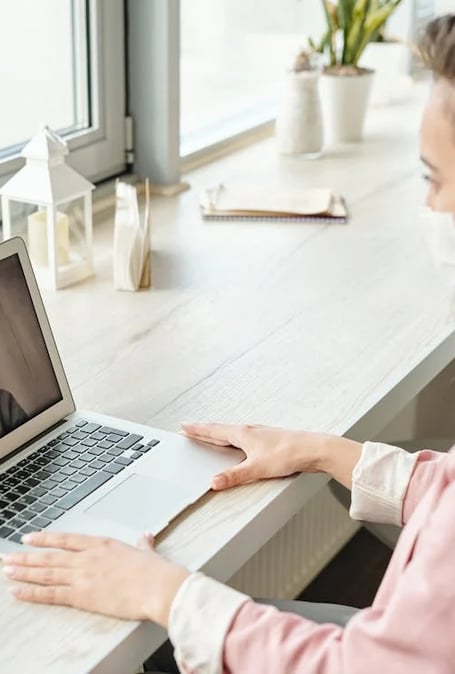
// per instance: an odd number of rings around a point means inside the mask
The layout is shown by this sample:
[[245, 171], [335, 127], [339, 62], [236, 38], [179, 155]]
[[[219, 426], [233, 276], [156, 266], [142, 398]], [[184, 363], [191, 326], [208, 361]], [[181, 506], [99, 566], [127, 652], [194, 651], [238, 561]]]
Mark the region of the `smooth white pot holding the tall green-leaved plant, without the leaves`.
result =
[[322, 75], [324, 132], [329, 144], [361, 140], [373, 77], [368, 71]]

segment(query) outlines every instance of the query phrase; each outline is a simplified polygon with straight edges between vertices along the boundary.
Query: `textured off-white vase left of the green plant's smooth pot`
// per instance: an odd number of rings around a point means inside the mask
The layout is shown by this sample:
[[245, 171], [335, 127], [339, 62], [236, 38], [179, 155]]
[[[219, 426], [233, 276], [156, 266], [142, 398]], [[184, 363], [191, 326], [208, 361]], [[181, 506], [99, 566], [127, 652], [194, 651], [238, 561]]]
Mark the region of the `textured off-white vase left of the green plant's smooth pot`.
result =
[[275, 132], [281, 154], [319, 157], [323, 144], [319, 71], [288, 73]]

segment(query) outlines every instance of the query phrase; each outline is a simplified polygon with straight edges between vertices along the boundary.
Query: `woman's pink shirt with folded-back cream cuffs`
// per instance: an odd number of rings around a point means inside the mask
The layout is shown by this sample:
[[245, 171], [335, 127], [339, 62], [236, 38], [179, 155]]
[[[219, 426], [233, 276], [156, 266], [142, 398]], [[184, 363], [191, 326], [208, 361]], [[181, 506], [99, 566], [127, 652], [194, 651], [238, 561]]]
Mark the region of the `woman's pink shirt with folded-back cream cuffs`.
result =
[[455, 452], [365, 443], [351, 516], [406, 524], [370, 608], [318, 625], [196, 573], [169, 636], [185, 674], [454, 674]]

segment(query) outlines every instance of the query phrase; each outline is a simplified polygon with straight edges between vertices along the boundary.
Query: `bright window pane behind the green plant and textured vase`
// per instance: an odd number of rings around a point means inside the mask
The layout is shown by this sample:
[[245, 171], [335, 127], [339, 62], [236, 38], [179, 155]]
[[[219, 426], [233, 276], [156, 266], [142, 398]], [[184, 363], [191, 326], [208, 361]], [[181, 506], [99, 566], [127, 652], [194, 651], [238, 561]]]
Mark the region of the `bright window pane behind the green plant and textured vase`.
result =
[[181, 155], [273, 119], [318, 0], [181, 0]]

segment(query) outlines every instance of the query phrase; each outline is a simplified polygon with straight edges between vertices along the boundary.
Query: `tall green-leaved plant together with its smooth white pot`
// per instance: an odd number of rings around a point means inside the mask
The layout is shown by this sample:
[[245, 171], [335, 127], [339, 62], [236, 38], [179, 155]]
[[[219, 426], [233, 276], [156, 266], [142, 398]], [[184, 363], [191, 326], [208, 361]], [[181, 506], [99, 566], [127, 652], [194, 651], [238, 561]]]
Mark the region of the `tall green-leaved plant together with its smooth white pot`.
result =
[[321, 1], [327, 29], [321, 42], [310, 40], [310, 46], [326, 58], [321, 82], [326, 135], [335, 142], [360, 140], [374, 71], [359, 61], [401, 0]]

